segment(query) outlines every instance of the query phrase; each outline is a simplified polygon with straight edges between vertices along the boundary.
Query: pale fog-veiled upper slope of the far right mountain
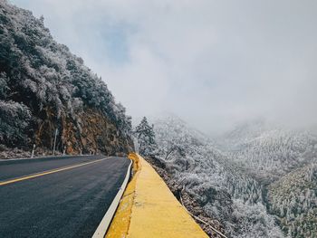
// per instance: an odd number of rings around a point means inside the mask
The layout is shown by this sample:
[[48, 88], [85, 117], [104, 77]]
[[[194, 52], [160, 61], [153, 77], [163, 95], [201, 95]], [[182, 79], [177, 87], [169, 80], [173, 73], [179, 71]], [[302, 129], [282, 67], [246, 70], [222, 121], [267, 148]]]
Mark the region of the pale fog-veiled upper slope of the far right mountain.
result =
[[317, 138], [309, 132], [247, 125], [228, 133], [223, 143], [227, 155], [258, 178], [276, 179], [316, 158]]

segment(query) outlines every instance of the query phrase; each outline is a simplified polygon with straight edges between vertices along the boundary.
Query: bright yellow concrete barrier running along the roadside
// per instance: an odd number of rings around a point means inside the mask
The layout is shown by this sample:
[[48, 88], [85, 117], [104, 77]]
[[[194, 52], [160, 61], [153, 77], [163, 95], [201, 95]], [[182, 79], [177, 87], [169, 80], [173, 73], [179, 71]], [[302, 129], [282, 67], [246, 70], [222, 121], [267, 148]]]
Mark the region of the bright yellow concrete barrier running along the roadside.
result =
[[106, 238], [208, 237], [153, 167], [137, 154], [129, 157], [134, 161], [134, 176], [122, 196]]

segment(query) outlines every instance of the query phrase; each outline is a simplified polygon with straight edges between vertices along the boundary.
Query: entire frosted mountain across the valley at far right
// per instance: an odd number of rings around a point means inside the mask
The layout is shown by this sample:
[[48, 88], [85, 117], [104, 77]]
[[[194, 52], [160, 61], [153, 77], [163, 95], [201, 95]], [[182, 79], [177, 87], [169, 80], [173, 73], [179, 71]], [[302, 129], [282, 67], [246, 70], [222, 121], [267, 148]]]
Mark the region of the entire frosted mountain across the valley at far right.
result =
[[230, 161], [264, 187], [264, 203], [283, 232], [288, 237], [316, 237], [314, 134], [256, 121], [227, 133], [222, 143]]

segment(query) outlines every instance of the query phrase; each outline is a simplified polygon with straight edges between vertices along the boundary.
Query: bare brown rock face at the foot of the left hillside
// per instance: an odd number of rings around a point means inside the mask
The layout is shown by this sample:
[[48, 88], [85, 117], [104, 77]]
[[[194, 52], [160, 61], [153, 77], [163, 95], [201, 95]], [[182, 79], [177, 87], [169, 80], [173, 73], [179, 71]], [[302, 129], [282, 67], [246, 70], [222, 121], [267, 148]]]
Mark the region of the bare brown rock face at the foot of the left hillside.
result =
[[[56, 126], [51, 119], [44, 119], [35, 133], [36, 145], [52, 148]], [[102, 152], [106, 155], [125, 155], [133, 150], [130, 138], [123, 138], [115, 124], [97, 109], [85, 109], [78, 114], [78, 120], [62, 118], [59, 125], [60, 141], [67, 154]], [[59, 133], [59, 132], [58, 132]]]

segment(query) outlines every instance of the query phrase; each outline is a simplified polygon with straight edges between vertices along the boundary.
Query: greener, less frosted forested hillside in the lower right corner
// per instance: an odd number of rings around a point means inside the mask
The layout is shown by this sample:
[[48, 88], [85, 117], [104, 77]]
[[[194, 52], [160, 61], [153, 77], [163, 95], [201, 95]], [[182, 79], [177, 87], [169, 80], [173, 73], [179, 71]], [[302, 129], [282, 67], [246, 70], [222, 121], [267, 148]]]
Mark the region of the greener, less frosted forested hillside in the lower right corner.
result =
[[270, 212], [290, 237], [317, 237], [317, 163], [299, 168], [268, 187]]

